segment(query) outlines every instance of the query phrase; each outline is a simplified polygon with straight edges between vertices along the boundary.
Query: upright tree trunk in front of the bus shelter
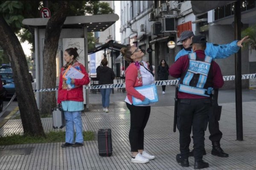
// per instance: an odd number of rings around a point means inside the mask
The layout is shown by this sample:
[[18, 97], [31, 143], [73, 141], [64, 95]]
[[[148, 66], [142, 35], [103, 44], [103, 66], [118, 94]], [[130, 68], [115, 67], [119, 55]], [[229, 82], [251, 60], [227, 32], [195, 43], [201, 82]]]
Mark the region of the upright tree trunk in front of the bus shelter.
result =
[[[56, 52], [67, 12], [67, 1], [60, 1], [58, 11], [49, 19], [46, 26], [43, 51], [43, 88], [56, 87]], [[44, 92], [41, 100], [41, 114], [51, 113], [51, 109], [54, 107], [56, 107], [55, 91]]]

